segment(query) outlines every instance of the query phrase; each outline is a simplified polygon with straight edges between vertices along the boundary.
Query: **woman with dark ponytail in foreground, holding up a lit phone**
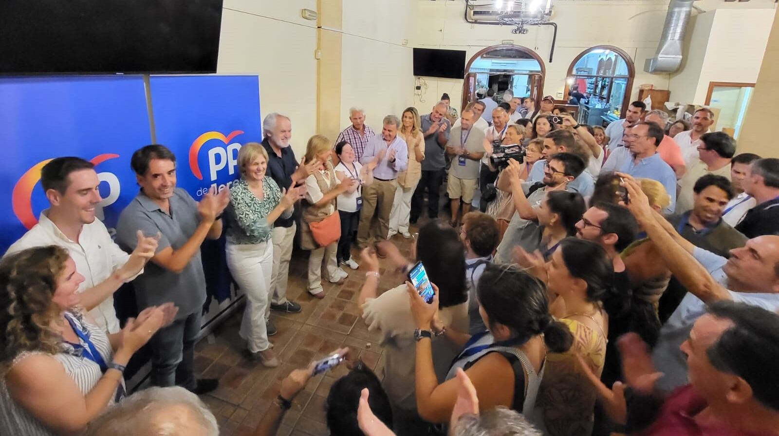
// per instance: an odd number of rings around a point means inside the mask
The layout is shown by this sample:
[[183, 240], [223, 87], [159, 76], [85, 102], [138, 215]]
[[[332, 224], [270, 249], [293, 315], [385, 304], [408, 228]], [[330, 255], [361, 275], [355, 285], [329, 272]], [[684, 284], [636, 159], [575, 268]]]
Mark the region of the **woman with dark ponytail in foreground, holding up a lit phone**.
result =
[[[416, 395], [419, 414], [432, 423], [449, 420], [455, 406], [457, 368], [474, 384], [481, 410], [504, 406], [534, 419], [535, 400], [544, 377], [547, 352], [564, 353], [573, 336], [549, 313], [543, 283], [511, 265], [488, 264], [477, 285], [479, 311], [488, 331], [465, 335], [436, 319], [438, 288], [432, 303], [407, 284], [417, 324]], [[431, 335], [446, 335], [464, 348], [439, 384], [432, 362]]]

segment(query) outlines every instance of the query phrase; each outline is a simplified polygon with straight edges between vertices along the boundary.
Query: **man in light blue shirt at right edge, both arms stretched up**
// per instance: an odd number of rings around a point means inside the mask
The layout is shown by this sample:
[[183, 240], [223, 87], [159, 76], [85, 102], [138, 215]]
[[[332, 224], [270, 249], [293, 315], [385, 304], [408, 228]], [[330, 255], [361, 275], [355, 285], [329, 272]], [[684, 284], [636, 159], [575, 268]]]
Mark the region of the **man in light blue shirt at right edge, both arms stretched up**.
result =
[[636, 180], [622, 176], [630, 198], [627, 207], [654, 243], [658, 257], [689, 291], [661, 329], [653, 350], [655, 367], [664, 374], [657, 387], [670, 390], [688, 383], [687, 363], [679, 346], [696, 319], [706, 313], [707, 303], [734, 300], [779, 309], [779, 236], [749, 239], [746, 246], [731, 250], [729, 259], [717, 256], [682, 238], [652, 210]]

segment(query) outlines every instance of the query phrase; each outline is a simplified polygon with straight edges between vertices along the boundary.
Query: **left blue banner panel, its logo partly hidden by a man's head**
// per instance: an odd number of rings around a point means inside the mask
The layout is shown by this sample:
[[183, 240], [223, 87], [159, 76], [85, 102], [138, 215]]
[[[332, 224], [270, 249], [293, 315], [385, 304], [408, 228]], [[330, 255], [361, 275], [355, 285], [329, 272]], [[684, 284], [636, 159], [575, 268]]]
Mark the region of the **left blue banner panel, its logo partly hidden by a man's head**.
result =
[[48, 207], [41, 167], [58, 156], [97, 165], [104, 197], [97, 215], [113, 227], [137, 193], [130, 155], [150, 143], [143, 77], [0, 79], [0, 131], [0, 253]]

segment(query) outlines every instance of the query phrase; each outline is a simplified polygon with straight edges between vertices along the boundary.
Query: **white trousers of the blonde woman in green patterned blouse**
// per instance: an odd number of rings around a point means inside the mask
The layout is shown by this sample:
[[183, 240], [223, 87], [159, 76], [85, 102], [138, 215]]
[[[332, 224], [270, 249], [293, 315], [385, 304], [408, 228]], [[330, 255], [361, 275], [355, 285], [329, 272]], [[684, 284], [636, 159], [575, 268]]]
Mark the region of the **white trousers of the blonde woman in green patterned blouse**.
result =
[[227, 266], [246, 296], [241, 320], [241, 338], [249, 351], [257, 353], [270, 346], [266, 329], [266, 312], [270, 304], [270, 274], [273, 269], [273, 244], [227, 243]]

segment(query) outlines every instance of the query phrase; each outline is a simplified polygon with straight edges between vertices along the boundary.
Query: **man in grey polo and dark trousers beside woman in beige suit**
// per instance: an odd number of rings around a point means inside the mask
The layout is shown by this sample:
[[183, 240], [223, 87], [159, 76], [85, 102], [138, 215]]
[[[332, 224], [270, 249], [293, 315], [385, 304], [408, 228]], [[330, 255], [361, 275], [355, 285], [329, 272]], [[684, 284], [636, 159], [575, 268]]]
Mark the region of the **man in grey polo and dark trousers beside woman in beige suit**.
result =
[[414, 191], [414, 197], [411, 197], [411, 224], [417, 222], [422, 214], [425, 190], [428, 190], [428, 217], [438, 218], [439, 191], [446, 167], [444, 151], [452, 129], [446, 119], [447, 111], [446, 103], [439, 101], [428, 115], [420, 117], [422, 134], [425, 136], [425, 160], [422, 161], [422, 175], [417, 190]]

